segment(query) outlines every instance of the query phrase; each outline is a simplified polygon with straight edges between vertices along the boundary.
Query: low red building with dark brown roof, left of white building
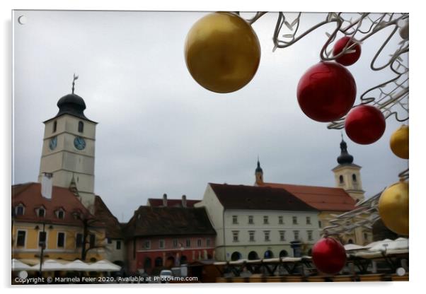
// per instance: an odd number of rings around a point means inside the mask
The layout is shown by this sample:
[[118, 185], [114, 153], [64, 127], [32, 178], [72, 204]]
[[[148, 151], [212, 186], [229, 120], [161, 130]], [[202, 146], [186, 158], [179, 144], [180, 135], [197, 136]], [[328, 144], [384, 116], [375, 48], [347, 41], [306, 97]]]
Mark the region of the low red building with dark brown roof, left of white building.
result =
[[130, 273], [159, 274], [215, 256], [216, 232], [205, 208], [140, 206], [123, 232]]

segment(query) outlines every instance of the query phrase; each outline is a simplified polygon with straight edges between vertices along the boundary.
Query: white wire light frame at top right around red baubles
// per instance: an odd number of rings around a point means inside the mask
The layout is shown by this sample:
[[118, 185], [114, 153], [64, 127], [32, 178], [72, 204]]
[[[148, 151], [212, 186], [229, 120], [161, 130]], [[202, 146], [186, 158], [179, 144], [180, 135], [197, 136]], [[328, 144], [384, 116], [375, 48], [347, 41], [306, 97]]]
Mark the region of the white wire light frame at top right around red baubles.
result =
[[[253, 24], [266, 12], [257, 12], [253, 18], [248, 19], [248, 23]], [[386, 40], [377, 49], [376, 54], [370, 64], [370, 69], [373, 71], [381, 71], [390, 69], [395, 75], [388, 81], [384, 81], [377, 86], [369, 88], [360, 95], [360, 104], [374, 105], [379, 108], [384, 114], [384, 117], [395, 116], [398, 122], [408, 120], [408, 13], [327, 13], [326, 19], [316, 25], [313, 25], [303, 33], [299, 33], [302, 13], [297, 13], [297, 16], [290, 20], [290, 16], [294, 17], [294, 13], [279, 12], [277, 24], [275, 25], [274, 35], [274, 51], [278, 48], [286, 48], [301, 38], [309, 35], [317, 28], [329, 23], [335, 23], [335, 29], [332, 33], [326, 33], [328, 39], [321, 48], [321, 61], [331, 61], [343, 54], [354, 52], [355, 43], [362, 43], [374, 34], [386, 29], [393, 28]], [[353, 19], [353, 16], [356, 16]], [[407, 33], [403, 35], [401, 30], [406, 26]], [[388, 61], [384, 64], [379, 64], [379, 57], [383, 58], [385, 49], [388, 49], [389, 41], [393, 35], [400, 30], [401, 42], [393, 53], [389, 55]], [[341, 33], [350, 37], [350, 41], [342, 52], [333, 56], [333, 47], [330, 46], [335, 37]], [[357, 105], [354, 105], [356, 107]], [[328, 129], [342, 129], [344, 127], [345, 117], [338, 119], [335, 122], [328, 124]]]

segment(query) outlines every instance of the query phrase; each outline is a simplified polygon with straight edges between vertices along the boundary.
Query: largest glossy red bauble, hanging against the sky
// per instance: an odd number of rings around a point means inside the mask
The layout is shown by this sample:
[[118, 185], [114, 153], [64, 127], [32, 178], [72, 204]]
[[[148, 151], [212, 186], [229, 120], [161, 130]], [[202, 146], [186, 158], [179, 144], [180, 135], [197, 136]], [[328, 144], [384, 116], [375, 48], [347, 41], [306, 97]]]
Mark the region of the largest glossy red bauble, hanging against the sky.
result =
[[297, 85], [301, 110], [317, 122], [340, 119], [354, 105], [355, 80], [345, 66], [323, 61], [308, 69]]

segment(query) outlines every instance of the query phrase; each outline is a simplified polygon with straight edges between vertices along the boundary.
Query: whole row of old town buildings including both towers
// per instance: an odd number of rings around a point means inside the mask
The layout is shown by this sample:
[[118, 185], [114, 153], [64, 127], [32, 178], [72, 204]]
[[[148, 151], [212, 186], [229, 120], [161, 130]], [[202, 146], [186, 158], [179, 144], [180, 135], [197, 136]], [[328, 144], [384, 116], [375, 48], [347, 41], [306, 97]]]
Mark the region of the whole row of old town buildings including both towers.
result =
[[[120, 223], [94, 192], [96, 122], [72, 93], [44, 122], [38, 182], [12, 186], [12, 258], [108, 259], [127, 272], [154, 273], [200, 260], [229, 261], [310, 254], [335, 215], [364, 199], [347, 145], [333, 169], [335, 187], [264, 182], [258, 160], [253, 186], [207, 184], [200, 199], [148, 199]], [[364, 245], [357, 228], [342, 242]]]

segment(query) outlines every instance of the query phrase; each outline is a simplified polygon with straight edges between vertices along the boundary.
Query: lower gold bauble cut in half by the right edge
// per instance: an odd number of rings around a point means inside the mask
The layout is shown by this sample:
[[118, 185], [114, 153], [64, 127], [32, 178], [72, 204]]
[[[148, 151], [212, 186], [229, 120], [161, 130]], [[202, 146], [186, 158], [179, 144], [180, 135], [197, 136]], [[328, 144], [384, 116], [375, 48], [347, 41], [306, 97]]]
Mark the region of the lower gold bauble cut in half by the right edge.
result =
[[389, 230], [408, 235], [408, 182], [400, 180], [381, 193], [379, 214]]

